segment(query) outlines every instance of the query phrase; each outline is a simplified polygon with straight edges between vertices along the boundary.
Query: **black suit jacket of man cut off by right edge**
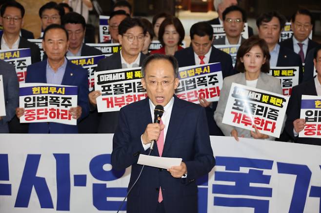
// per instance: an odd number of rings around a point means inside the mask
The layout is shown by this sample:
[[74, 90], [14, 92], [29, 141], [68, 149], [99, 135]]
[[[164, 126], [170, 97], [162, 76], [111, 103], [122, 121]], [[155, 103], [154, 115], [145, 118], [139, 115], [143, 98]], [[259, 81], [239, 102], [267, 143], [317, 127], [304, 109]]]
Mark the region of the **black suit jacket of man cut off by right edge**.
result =
[[293, 87], [289, 104], [286, 110], [286, 115], [287, 115], [287, 119], [285, 123], [286, 132], [291, 136], [294, 142], [321, 145], [321, 139], [294, 137], [293, 121], [300, 118], [301, 95], [317, 95], [314, 79], [311, 79], [307, 82], [303, 82], [302, 84]]

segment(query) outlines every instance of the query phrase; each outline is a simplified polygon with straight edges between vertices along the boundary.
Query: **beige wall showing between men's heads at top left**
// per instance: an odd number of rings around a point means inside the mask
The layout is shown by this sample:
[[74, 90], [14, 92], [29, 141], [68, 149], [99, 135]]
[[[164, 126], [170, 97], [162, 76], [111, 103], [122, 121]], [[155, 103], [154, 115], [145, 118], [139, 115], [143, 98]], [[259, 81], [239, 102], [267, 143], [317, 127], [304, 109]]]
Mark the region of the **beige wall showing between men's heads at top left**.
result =
[[[40, 37], [40, 31], [41, 31], [41, 24], [40, 24], [40, 18], [38, 15], [40, 7], [49, 2], [50, 0], [17, 0], [19, 1], [24, 9], [25, 9], [25, 15], [24, 15], [24, 22], [23, 22], [23, 29], [29, 30], [34, 33], [35, 38]], [[53, 0], [58, 3], [62, 2], [62, 0]]]

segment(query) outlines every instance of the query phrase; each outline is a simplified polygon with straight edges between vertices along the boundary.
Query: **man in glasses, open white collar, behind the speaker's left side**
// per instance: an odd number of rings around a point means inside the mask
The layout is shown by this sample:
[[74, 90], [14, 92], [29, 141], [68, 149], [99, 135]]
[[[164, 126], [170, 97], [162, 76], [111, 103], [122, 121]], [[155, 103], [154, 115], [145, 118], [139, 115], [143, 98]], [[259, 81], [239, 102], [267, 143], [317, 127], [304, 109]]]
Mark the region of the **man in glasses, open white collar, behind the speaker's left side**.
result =
[[[118, 35], [121, 51], [101, 59], [96, 71], [140, 67], [146, 57], [141, 53], [145, 34], [146, 30], [139, 18], [127, 17], [122, 20]], [[97, 90], [89, 93], [89, 101], [93, 106], [96, 106], [96, 98], [100, 95], [100, 91]], [[114, 133], [118, 123], [118, 114], [119, 112], [101, 113], [98, 133]]]

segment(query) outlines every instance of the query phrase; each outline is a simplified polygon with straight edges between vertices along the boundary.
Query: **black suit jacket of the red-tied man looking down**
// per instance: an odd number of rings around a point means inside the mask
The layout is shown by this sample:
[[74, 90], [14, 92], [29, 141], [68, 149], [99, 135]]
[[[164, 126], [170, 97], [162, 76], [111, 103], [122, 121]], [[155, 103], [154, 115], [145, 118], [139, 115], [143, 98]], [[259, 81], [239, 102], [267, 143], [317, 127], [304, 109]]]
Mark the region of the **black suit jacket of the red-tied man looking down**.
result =
[[[180, 67], [193, 66], [195, 65], [194, 51], [192, 47], [185, 48], [175, 53], [175, 58], [179, 62]], [[209, 63], [221, 62], [223, 78], [235, 74], [232, 66], [231, 55], [215, 48], [212, 46]], [[212, 103], [212, 107], [206, 107], [207, 124], [210, 135], [223, 136], [221, 129], [217, 126], [214, 121], [214, 111], [217, 106], [217, 102]]]

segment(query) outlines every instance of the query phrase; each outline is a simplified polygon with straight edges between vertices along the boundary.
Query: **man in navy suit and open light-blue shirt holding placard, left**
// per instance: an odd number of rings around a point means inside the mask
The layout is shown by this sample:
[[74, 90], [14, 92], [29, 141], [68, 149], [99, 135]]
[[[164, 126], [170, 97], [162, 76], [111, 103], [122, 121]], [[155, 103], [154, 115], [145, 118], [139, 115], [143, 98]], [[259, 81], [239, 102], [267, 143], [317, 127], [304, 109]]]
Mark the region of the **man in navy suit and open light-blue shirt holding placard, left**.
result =
[[[78, 87], [78, 106], [71, 107], [73, 119], [80, 121], [89, 113], [88, 74], [87, 70], [69, 62], [65, 58], [68, 50], [68, 33], [58, 24], [49, 25], [43, 33], [42, 47], [47, 60], [27, 67], [26, 83], [48, 83]], [[20, 118], [24, 108], [17, 108], [16, 115]], [[29, 133], [78, 133], [77, 125], [59, 124], [54, 122], [31, 123]]]

